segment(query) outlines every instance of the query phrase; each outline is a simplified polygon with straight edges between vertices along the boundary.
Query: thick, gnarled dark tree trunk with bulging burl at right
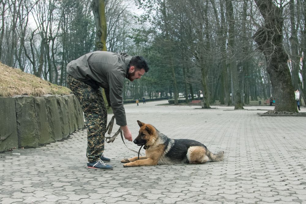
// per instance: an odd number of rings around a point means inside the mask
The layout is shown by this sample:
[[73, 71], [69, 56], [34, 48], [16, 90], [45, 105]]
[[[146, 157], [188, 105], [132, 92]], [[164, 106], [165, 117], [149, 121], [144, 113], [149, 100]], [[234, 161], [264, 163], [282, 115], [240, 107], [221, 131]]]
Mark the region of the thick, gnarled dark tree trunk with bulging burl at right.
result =
[[272, 0], [255, 0], [265, 24], [257, 30], [254, 40], [267, 61], [274, 92], [275, 106], [272, 112], [297, 112], [294, 89], [287, 66], [288, 55], [282, 45], [283, 8], [274, 5]]

